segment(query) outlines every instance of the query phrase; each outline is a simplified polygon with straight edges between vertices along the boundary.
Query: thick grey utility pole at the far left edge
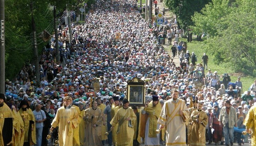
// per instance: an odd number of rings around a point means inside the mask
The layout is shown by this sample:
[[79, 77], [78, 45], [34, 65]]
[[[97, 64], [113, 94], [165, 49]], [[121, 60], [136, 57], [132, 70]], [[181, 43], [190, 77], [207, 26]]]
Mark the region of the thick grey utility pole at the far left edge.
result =
[[0, 0], [0, 93], [5, 94], [5, 10]]

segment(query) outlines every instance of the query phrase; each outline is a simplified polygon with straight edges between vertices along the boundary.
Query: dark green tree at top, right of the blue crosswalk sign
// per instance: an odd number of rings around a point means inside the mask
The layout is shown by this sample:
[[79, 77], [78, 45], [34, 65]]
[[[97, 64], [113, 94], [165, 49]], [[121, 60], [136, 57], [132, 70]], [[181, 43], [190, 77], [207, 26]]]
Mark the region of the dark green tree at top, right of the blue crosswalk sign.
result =
[[182, 29], [187, 29], [188, 26], [193, 25], [191, 17], [194, 12], [200, 12], [201, 9], [211, 0], [165, 0], [165, 5], [169, 7], [170, 11], [177, 16], [178, 26]]

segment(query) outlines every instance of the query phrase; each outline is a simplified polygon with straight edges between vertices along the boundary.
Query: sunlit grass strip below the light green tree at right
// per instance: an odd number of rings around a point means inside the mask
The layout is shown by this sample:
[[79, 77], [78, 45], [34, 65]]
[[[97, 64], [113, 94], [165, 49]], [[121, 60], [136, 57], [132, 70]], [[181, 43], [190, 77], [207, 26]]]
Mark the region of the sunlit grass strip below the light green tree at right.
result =
[[[193, 36], [194, 38], [195, 36]], [[187, 42], [187, 39], [185, 38], [180, 38], [179, 41], [182, 40], [183, 42]], [[192, 55], [192, 52], [194, 52], [197, 56], [197, 63], [201, 63], [202, 61], [202, 56], [203, 56], [203, 53], [205, 53], [205, 50], [203, 48], [203, 44], [202, 42], [198, 42], [196, 41], [196, 39], [193, 39], [193, 41], [191, 43], [187, 43], [187, 46], [188, 46], [188, 49], [190, 54]], [[165, 50], [169, 51], [170, 48], [165, 48]], [[246, 91], [248, 90], [248, 88], [251, 86], [252, 83], [254, 83], [254, 80], [255, 78], [254, 77], [251, 77], [251, 76], [246, 76], [242, 73], [235, 73], [232, 69], [232, 66], [228, 66], [226, 64], [220, 64], [220, 65], [217, 65], [213, 62], [213, 56], [212, 55], [208, 55], [208, 69], [211, 69], [212, 72], [214, 71], [217, 71], [218, 72], [218, 75], [222, 75], [222, 74], [225, 74], [225, 73], [228, 73], [231, 78], [231, 82], [235, 82], [238, 78], [238, 76], [241, 77], [241, 82], [242, 82], [242, 85], [243, 85], [243, 91]], [[206, 71], [207, 72], [207, 71]], [[222, 80], [222, 78], [220, 79]]]

